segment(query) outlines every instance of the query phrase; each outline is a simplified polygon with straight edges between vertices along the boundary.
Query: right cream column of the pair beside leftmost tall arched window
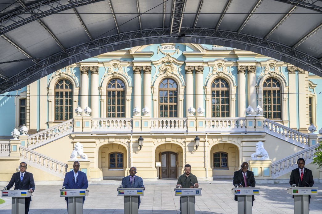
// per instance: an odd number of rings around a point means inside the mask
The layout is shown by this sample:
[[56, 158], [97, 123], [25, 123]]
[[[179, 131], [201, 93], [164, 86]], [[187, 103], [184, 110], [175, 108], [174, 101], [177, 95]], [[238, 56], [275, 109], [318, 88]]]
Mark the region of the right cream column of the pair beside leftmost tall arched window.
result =
[[99, 67], [91, 66], [91, 92], [90, 105], [92, 109], [92, 117], [99, 117]]

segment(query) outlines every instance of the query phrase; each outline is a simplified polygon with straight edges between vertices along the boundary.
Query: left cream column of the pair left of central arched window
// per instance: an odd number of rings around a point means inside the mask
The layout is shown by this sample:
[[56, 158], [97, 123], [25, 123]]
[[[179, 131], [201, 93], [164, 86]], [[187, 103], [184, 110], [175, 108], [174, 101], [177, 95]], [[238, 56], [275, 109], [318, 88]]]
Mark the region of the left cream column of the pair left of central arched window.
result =
[[139, 112], [137, 115], [133, 113], [133, 116], [141, 116], [141, 70], [142, 66], [133, 66], [133, 73], [134, 73], [134, 100], [133, 100], [133, 107], [138, 108]]

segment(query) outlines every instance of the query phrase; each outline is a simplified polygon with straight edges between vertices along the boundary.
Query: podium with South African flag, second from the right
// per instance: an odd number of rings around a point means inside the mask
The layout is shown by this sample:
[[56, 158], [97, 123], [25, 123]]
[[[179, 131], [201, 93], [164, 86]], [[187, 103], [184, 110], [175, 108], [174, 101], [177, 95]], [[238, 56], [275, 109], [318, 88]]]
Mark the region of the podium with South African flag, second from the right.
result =
[[254, 187], [236, 187], [231, 189], [233, 195], [237, 195], [238, 200], [238, 214], [251, 214], [252, 196], [260, 195], [260, 188]]

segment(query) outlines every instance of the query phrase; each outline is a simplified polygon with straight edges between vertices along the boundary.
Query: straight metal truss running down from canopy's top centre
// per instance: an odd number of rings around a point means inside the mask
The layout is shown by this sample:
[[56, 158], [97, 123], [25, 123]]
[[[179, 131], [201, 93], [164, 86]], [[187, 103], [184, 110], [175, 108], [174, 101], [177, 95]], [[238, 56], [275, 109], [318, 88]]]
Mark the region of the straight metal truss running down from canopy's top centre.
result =
[[179, 36], [187, 0], [174, 0], [172, 7], [170, 35]]

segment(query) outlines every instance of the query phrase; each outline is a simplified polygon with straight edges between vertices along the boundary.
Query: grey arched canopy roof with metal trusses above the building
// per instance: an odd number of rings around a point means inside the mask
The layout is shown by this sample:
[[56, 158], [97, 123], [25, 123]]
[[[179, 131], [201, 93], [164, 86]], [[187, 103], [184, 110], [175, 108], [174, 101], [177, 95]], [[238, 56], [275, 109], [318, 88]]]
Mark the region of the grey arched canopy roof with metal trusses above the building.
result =
[[1, 0], [0, 93], [138, 45], [248, 50], [322, 77], [321, 0]]

